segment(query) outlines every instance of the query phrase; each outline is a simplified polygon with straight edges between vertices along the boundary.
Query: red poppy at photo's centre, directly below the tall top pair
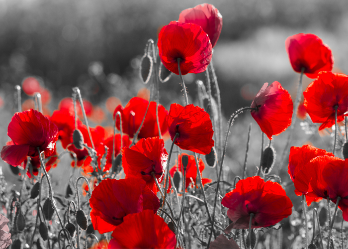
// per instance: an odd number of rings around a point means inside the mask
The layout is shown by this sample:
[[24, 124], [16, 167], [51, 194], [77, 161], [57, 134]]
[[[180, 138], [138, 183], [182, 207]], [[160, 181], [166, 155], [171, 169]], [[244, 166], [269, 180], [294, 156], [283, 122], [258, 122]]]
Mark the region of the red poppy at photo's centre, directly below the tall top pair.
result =
[[168, 130], [173, 141], [176, 133], [179, 136], [175, 144], [181, 149], [200, 154], [209, 154], [214, 146], [213, 125], [209, 114], [193, 104], [185, 107], [172, 104], [167, 118]]

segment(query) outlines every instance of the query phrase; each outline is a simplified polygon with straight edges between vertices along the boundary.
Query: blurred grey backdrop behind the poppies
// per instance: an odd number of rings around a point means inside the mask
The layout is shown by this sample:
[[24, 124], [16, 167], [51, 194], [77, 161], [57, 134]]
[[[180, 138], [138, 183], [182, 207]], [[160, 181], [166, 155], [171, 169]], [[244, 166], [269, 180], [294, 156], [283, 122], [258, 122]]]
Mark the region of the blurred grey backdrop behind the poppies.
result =
[[[120, 103], [125, 106], [140, 89], [148, 87], [139, 78], [140, 58], [147, 40], [152, 38], [156, 42], [162, 26], [177, 20], [181, 10], [200, 3], [198, 0], [0, 0], [1, 146], [9, 139], [7, 125], [17, 111], [14, 86], [21, 85], [27, 77], [35, 77], [40, 87], [47, 90], [43, 94], [47, 115], [58, 108], [62, 98], [71, 97], [72, 87], [78, 86], [83, 98], [96, 110], [92, 126], [111, 125], [112, 108]], [[318, 35], [333, 51], [334, 71], [348, 73], [347, 0], [211, 0], [209, 3], [223, 16], [213, 61], [221, 91], [224, 127], [238, 108], [250, 106], [265, 82], [279, 81], [295, 97], [299, 74], [292, 70], [284, 45], [290, 35], [300, 32]], [[184, 78], [190, 102], [198, 105], [195, 80], [203, 80], [204, 73]], [[304, 76], [303, 90], [310, 82]], [[167, 110], [171, 103], [182, 104], [180, 91], [177, 76], [161, 83], [160, 103]], [[33, 106], [32, 97], [22, 93], [22, 103], [23, 110]], [[261, 130], [249, 113], [240, 115], [232, 128], [225, 161], [228, 180], [241, 174], [250, 123], [253, 128], [249, 175], [254, 174], [260, 162]], [[320, 135], [316, 126], [313, 129], [311, 125], [298, 121], [291, 145], [301, 146], [310, 141], [331, 150], [333, 138]], [[278, 159], [286, 137], [287, 134], [281, 134], [273, 139]], [[0, 165], [10, 179], [7, 165], [3, 161]], [[279, 171], [277, 167], [273, 173]], [[280, 174], [288, 182], [286, 171], [283, 165]], [[208, 169], [204, 174], [216, 177], [215, 169]]]

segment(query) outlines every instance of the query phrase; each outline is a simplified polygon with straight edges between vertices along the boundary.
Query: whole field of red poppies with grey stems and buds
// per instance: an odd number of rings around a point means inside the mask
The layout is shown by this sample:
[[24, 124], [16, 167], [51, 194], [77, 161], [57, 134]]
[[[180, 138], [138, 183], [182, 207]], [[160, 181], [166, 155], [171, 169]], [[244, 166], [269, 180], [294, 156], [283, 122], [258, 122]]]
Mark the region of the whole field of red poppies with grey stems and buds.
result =
[[[20, 184], [0, 171], [0, 249], [347, 248], [348, 75], [333, 70], [330, 44], [289, 33], [282, 42], [297, 93], [260, 82], [226, 118], [213, 63], [223, 16], [209, 3], [177, 14], [146, 37], [143, 88], [122, 104], [130, 91], [117, 83], [108, 116], [79, 87], [52, 113], [55, 92], [39, 78], [11, 88], [1, 167]], [[195, 92], [190, 74], [201, 76]], [[181, 89], [168, 94], [173, 79]], [[327, 142], [294, 146], [301, 128]]]

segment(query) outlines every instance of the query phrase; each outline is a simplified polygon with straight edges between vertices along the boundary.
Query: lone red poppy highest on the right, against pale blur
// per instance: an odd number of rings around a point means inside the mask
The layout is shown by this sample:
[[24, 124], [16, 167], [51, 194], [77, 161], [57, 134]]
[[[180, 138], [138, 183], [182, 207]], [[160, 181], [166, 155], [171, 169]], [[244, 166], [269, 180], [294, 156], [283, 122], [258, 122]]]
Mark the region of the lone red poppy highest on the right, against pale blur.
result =
[[334, 57], [331, 49], [315, 34], [295, 34], [285, 40], [285, 49], [295, 72], [315, 79], [320, 71], [331, 71]]

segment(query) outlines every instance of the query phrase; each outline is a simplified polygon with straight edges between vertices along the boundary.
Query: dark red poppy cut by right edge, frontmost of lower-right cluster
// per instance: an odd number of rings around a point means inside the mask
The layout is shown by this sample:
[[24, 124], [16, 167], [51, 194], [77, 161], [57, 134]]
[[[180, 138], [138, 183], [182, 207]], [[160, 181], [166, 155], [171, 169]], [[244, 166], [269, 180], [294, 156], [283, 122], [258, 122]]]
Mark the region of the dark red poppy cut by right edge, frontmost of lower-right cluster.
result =
[[348, 159], [331, 161], [324, 167], [324, 181], [328, 184], [329, 197], [343, 211], [343, 218], [348, 221]]

